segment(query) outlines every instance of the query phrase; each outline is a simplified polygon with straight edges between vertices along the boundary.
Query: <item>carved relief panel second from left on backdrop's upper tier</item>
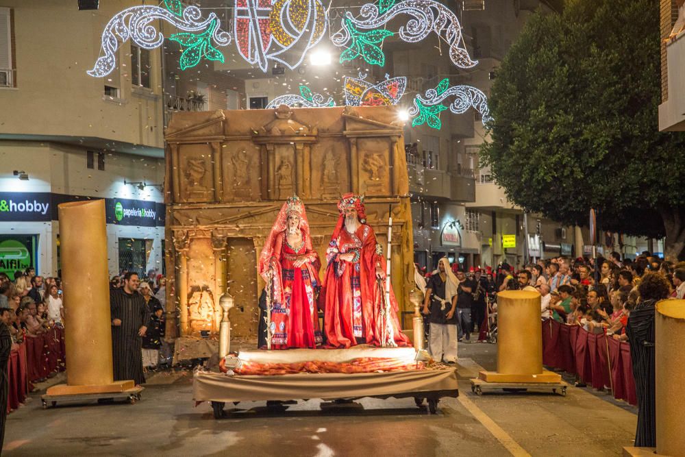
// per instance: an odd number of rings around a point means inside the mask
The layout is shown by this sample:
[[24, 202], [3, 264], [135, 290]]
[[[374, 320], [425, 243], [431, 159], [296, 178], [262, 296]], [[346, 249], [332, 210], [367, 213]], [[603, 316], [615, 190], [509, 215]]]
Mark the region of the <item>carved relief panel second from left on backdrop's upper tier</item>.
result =
[[225, 201], [254, 200], [259, 193], [259, 147], [249, 141], [229, 141], [221, 146]]

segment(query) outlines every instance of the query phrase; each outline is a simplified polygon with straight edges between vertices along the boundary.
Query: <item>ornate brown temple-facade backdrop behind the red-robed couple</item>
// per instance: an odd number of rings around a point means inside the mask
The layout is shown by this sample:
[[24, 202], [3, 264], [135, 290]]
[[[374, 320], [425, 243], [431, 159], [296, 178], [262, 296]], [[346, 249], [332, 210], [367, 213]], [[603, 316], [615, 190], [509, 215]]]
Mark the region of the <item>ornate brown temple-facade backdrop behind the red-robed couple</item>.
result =
[[[264, 283], [256, 264], [283, 200], [303, 199], [314, 249], [325, 249], [341, 193], [366, 195], [387, 243], [393, 287], [410, 310], [414, 261], [403, 123], [394, 107], [179, 112], [166, 130], [167, 335], [216, 336], [219, 297], [236, 299], [232, 336], [257, 334]], [[390, 209], [391, 208], [391, 209]]]

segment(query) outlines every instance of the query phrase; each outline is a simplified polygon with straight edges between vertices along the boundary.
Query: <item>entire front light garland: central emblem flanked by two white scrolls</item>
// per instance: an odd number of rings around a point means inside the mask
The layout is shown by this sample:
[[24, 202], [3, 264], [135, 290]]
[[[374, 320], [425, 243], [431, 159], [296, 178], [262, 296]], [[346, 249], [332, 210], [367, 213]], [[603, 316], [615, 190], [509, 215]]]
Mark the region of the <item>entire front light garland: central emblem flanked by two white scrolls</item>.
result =
[[[88, 71], [94, 77], [105, 77], [116, 68], [116, 51], [121, 43], [131, 40], [144, 49], [162, 45], [164, 36], [155, 29], [155, 21], [164, 21], [182, 32], [169, 36], [181, 46], [179, 64], [182, 70], [199, 64], [203, 58], [224, 62], [216, 47], [227, 46], [235, 39], [238, 52], [251, 65], [266, 73], [273, 63], [289, 69], [299, 66], [306, 53], [325, 35], [328, 18], [321, 0], [235, 0], [234, 34], [221, 30], [214, 13], [202, 18], [196, 6], [183, 7], [180, 0], [164, 0], [166, 8], [151, 5], [133, 6], [118, 14], [105, 26], [101, 38], [101, 55]], [[386, 27], [400, 14], [412, 16], [398, 32]], [[449, 44], [449, 57], [463, 69], [475, 66], [464, 47], [462, 27], [456, 15], [435, 0], [379, 0], [379, 5], [366, 3], [360, 17], [347, 12], [341, 29], [331, 36], [340, 53], [340, 63], [362, 58], [372, 65], [384, 66], [381, 45], [385, 38], [397, 34], [407, 42], [417, 42], [435, 32]]]

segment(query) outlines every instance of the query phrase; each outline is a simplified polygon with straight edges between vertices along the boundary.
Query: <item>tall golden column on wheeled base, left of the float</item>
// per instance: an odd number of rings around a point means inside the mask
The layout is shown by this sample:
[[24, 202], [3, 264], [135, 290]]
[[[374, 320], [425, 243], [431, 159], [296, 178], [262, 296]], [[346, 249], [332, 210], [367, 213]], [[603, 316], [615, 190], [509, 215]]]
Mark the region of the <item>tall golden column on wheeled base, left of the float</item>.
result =
[[69, 369], [67, 384], [52, 386], [47, 395], [133, 388], [133, 381], [114, 382], [105, 201], [73, 201], [58, 208]]

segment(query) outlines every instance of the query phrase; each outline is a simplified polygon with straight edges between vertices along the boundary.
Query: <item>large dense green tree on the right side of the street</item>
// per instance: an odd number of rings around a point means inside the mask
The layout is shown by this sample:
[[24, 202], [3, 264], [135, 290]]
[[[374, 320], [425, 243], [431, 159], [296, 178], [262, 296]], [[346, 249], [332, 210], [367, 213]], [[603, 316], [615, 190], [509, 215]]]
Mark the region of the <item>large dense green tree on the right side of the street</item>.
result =
[[517, 205], [562, 223], [666, 236], [685, 256], [685, 133], [658, 131], [659, 3], [573, 0], [538, 12], [490, 92], [484, 166]]

